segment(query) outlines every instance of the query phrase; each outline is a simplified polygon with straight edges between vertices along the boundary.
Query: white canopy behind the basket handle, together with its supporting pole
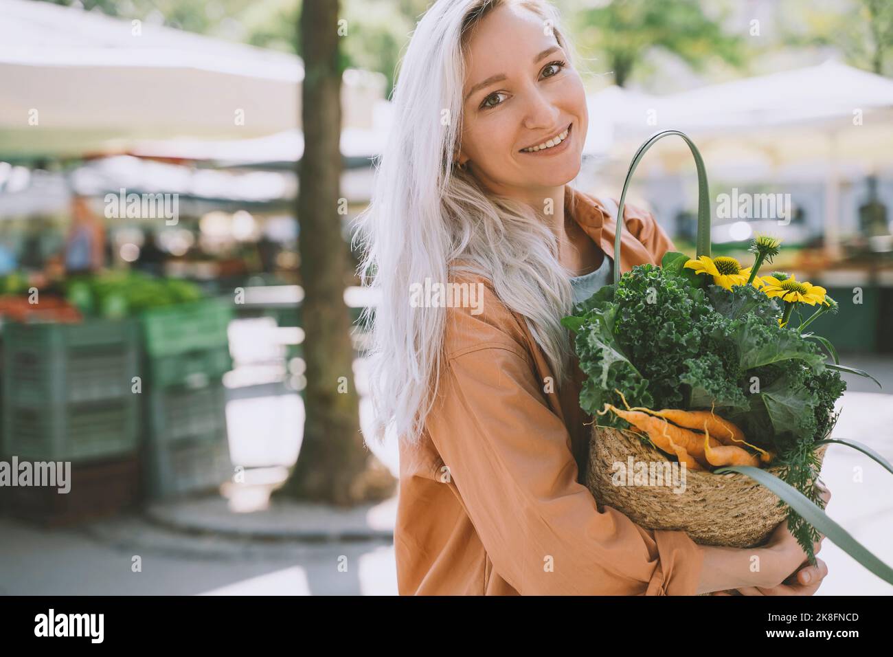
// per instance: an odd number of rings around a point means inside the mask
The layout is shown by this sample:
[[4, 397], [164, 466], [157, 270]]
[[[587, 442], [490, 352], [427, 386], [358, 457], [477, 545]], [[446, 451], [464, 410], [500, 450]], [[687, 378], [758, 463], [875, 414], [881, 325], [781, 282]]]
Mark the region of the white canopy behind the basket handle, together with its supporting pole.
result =
[[[809, 168], [813, 180], [825, 182], [823, 233], [831, 257], [839, 253], [843, 172], [864, 176], [893, 164], [893, 80], [834, 61], [665, 97], [607, 88], [588, 102], [590, 123], [593, 107], [610, 108], [617, 175], [648, 136], [670, 129], [694, 139], [714, 176], [767, 181], [788, 165]], [[689, 148], [664, 139], [637, 176], [680, 171], [694, 171]]]

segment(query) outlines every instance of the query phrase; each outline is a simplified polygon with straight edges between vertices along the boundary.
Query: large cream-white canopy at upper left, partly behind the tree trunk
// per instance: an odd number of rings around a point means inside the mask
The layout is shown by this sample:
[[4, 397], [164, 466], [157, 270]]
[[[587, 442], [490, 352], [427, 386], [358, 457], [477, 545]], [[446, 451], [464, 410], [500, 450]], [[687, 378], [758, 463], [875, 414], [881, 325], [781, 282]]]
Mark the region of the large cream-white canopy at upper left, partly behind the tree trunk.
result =
[[[0, 0], [0, 44], [0, 158], [300, 127], [295, 55], [26, 0]], [[383, 76], [349, 73], [345, 125], [368, 127]]]

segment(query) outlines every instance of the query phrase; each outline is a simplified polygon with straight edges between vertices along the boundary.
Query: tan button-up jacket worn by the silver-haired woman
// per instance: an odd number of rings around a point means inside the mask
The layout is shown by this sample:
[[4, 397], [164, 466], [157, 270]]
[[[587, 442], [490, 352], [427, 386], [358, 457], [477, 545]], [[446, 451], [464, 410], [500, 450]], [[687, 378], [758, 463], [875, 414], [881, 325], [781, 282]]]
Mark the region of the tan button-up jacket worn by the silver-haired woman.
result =
[[[570, 186], [565, 207], [613, 257], [607, 207]], [[671, 240], [647, 212], [624, 215], [621, 270], [658, 264]], [[419, 446], [400, 446], [399, 594], [695, 594], [696, 543], [599, 509], [580, 483], [591, 417], [576, 358], [573, 381], [551, 392], [522, 317], [480, 281], [482, 313], [447, 309], [438, 400]]]

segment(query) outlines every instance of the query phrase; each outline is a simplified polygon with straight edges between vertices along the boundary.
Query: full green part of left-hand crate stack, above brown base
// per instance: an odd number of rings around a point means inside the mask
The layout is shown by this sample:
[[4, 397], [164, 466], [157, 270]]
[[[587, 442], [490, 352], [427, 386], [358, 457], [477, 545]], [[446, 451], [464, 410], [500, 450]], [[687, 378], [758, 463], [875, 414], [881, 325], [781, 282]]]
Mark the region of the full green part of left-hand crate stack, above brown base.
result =
[[0, 452], [72, 463], [138, 446], [138, 330], [129, 321], [5, 324]]

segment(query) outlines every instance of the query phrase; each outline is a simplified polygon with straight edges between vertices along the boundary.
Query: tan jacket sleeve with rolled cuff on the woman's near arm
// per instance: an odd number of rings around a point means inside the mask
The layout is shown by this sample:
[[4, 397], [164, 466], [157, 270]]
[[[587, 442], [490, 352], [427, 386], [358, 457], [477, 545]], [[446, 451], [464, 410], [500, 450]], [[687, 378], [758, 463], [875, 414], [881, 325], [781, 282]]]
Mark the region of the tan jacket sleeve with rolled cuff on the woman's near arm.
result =
[[702, 549], [651, 531], [577, 482], [563, 421], [522, 345], [447, 358], [426, 426], [495, 571], [520, 594], [695, 594]]

